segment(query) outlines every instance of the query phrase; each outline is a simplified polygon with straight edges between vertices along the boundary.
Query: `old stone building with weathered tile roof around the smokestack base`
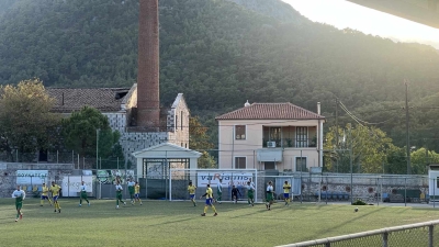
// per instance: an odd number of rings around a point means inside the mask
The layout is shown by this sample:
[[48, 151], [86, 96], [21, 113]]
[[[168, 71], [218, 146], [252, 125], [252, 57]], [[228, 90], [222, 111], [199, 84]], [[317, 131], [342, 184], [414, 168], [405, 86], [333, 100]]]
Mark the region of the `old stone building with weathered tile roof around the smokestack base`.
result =
[[190, 112], [182, 93], [170, 105], [160, 108], [159, 130], [145, 132], [136, 123], [137, 83], [131, 88], [46, 88], [46, 91], [55, 99], [53, 112], [68, 115], [87, 105], [106, 115], [110, 127], [121, 133], [120, 144], [130, 159], [132, 153], [162, 143], [189, 147]]

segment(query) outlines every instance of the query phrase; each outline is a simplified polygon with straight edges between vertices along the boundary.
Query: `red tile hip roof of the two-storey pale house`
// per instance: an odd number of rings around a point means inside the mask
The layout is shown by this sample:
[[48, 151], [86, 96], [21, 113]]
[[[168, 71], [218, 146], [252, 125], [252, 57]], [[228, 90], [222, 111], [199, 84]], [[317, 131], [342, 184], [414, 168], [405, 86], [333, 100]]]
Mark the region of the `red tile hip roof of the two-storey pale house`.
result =
[[252, 103], [216, 120], [324, 120], [325, 116], [292, 103]]

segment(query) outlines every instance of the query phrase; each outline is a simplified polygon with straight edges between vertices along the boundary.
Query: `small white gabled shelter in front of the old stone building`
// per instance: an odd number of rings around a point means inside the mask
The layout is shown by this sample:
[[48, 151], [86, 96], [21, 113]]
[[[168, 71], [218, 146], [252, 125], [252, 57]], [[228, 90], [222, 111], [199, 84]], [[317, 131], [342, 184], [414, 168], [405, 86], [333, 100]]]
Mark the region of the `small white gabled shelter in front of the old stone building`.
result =
[[132, 155], [137, 161], [137, 178], [164, 179], [172, 168], [196, 169], [201, 153], [162, 143], [134, 151]]

